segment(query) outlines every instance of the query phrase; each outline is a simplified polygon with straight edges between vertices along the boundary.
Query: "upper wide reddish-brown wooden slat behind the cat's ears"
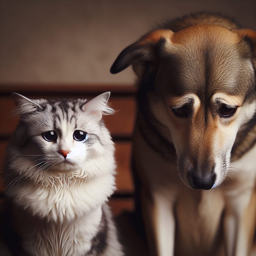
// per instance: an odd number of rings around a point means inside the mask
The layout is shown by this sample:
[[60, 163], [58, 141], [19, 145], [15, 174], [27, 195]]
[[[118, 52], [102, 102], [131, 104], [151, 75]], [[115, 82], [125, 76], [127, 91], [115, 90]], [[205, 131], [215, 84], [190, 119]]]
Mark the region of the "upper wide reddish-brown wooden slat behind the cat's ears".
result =
[[[135, 119], [134, 98], [112, 97], [110, 103], [117, 110], [114, 115], [103, 117], [110, 133], [112, 136], [131, 136]], [[1, 97], [0, 109], [4, 110], [0, 113], [0, 136], [10, 136], [19, 120], [19, 117], [13, 116], [16, 106], [10, 97]]]

